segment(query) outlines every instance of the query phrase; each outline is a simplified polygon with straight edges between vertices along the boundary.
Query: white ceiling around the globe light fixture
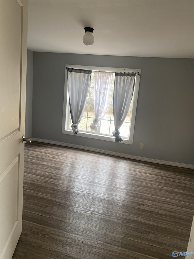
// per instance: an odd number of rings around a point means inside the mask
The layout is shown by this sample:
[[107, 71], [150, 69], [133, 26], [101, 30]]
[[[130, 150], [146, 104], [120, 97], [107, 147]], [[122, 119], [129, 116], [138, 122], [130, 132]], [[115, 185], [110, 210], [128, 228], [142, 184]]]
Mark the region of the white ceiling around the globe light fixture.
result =
[[28, 49], [194, 58], [194, 0], [29, 0]]

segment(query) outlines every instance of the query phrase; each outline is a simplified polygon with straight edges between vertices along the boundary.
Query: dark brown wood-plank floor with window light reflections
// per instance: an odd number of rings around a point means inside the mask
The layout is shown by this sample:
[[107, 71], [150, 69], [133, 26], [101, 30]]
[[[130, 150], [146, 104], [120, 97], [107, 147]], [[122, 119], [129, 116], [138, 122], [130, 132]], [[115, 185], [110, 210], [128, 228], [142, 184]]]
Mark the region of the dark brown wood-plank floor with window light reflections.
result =
[[173, 258], [187, 249], [193, 186], [192, 169], [25, 145], [23, 230], [13, 258]]

